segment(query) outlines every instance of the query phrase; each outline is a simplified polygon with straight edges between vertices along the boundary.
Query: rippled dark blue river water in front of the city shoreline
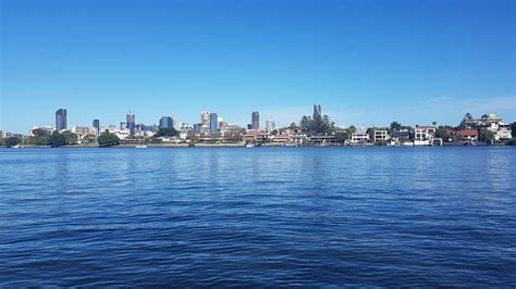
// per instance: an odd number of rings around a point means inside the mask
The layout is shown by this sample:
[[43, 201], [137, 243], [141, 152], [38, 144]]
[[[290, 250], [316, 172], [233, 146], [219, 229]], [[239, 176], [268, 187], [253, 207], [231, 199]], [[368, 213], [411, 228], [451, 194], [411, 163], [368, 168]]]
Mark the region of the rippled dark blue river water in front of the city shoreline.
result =
[[513, 148], [0, 150], [0, 286], [516, 286]]

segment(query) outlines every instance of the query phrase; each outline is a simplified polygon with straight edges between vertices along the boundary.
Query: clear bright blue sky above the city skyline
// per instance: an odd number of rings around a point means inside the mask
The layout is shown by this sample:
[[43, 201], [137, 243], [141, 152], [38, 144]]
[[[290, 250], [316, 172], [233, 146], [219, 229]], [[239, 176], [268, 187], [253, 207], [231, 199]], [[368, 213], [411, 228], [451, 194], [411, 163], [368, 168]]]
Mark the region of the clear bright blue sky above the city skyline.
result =
[[1, 2], [0, 129], [202, 110], [337, 125], [516, 121], [514, 1]]

